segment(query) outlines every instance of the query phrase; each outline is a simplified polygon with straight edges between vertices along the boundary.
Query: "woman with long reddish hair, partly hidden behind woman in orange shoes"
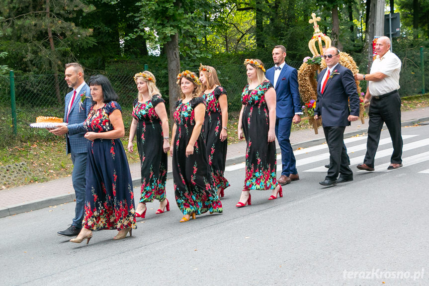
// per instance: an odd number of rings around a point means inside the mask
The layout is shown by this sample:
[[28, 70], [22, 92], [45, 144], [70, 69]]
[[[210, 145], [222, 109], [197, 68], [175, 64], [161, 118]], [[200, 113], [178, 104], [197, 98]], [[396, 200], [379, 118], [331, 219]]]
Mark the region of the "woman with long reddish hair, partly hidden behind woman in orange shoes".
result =
[[202, 97], [206, 101], [204, 117], [204, 139], [207, 156], [217, 188], [217, 195], [224, 196], [224, 190], [230, 185], [224, 177], [226, 152], [228, 147], [228, 101], [226, 91], [221, 87], [216, 70], [200, 64]]

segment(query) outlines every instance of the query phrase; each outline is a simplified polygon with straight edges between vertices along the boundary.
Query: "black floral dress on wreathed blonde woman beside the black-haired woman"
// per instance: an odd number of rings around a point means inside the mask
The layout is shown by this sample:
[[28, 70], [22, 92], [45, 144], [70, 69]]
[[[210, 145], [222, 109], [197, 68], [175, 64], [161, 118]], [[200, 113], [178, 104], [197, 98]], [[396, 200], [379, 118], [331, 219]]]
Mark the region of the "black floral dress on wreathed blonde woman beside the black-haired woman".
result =
[[140, 202], [143, 203], [166, 199], [167, 153], [163, 149], [162, 122], [155, 112], [155, 106], [159, 103], [165, 103], [161, 95], [153, 95], [144, 103], [136, 99], [133, 104], [142, 174]]

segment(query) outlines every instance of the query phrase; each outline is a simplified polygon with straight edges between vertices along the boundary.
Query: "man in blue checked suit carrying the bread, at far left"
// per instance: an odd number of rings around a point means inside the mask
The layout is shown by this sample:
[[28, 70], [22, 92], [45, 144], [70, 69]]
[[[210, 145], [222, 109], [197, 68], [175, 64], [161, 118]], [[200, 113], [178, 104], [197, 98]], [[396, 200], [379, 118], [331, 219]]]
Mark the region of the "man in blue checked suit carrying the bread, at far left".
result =
[[74, 165], [72, 181], [76, 193], [75, 217], [69, 228], [59, 231], [57, 234], [61, 236], [76, 236], [81, 231], [85, 213], [86, 144], [88, 140], [84, 137], [86, 133], [84, 121], [88, 115], [92, 100], [89, 87], [84, 80], [84, 69], [80, 64], [66, 64], [65, 75], [67, 85], [69, 88], [73, 88], [73, 91], [68, 93], [65, 98], [64, 122], [68, 123], [68, 125], [59, 125], [49, 132], [57, 136], [66, 135], [67, 154], [71, 154]]

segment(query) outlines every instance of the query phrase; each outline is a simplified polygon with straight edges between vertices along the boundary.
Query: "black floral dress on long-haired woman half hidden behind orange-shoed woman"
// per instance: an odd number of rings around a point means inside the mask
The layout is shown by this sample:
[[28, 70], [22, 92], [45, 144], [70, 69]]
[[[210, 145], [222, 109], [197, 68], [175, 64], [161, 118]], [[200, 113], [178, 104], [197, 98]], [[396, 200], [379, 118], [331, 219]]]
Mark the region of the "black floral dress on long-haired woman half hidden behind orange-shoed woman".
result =
[[222, 131], [220, 95], [226, 95], [225, 89], [221, 86], [217, 86], [210, 94], [202, 95], [206, 101], [204, 139], [215, 186], [226, 189], [230, 186], [228, 180], [224, 177], [228, 139], [223, 142], [220, 140], [220, 132]]

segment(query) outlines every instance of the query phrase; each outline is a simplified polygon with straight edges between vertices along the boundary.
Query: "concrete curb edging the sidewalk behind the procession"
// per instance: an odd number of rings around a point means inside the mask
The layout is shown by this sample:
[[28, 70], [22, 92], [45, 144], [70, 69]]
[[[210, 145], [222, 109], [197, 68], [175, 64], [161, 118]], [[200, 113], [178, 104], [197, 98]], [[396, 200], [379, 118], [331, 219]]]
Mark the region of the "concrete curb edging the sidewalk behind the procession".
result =
[[[417, 123], [425, 122], [425, 121], [429, 121], [429, 116], [411, 119], [411, 120], [407, 120], [407, 121], [402, 121], [401, 126], [402, 127], [412, 126], [412, 125], [415, 125]], [[383, 129], [386, 129], [386, 128], [387, 128], [387, 126], [383, 125]], [[363, 129], [358, 129], [355, 131], [347, 132], [347, 133], [344, 133], [344, 138], [360, 135], [362, 133], [366, 133], [367, 131], [368, 131], [368, 128], [363, 128]], [[325, 137], [321, 137], [318, 139], [294, 143], [294, 144], [292, 144], [292, 148], [293, 149], [307, 148], [307, 147], [311, 147], [314, 145], [323, 144], [325, 142], [326, 142]], [[277, 151], [277, 153], [280, 153], [280, 148], [277, 148], [276, 151]], [[246, 160], [245, 155], [241, 155], [241, 156], [237, 156], [237, 157], [233, 157], [233, 158], [227, 158], [226, 166], [243, 163], [243, 162], [245, 162], [245, 160]], [[167, 179], [172, 179], [172, 172], [171, 171], [167, 173]], [[133, 187], [139, 187], [140, 184], [141, 184], [140, 178], [133, 179]], [[15, 214], [23, 213], [23, 212], [28, 212], [31, 210], [45, 208], [45, 207], [48, 207], [51, 205], [58, 205], [58, 204], [66, 203], [66, 202], [72, 202], [75, 199], [76, 199], [75, 194], [71, 193], [71, 194], [66, 194], [66, 195], [59, 195], [59, 196], [43, 198], [40, 200], [26, 202], [23, 204], [13, 205], [10, 207], [0, 206], [0, 218], [6, 217], [9, 215], [15, 215]]]

